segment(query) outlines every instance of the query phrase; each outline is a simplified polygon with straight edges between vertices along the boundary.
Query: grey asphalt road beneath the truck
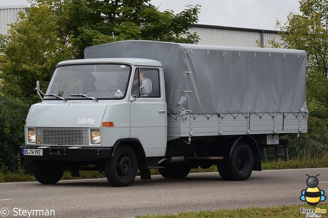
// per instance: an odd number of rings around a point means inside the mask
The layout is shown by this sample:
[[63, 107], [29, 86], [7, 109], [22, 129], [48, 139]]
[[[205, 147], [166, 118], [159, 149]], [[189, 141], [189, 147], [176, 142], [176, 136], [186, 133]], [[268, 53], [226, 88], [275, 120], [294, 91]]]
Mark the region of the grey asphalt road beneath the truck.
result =
[[305, 174], [320, 174], [318, 187], [328, 197], [328, 168], [254, 171], [242, 182], [223, 181], [217, 172], [194, 173], [182, 180], [137, 177], [131, 186], [120, 188], [106, 179], [0, 183], [0, 218], [36, 217], [41, 210], [44, 217], [47, 212], [52, 217], [133, 217], [302, 204], [301, 190], [308, 188]]

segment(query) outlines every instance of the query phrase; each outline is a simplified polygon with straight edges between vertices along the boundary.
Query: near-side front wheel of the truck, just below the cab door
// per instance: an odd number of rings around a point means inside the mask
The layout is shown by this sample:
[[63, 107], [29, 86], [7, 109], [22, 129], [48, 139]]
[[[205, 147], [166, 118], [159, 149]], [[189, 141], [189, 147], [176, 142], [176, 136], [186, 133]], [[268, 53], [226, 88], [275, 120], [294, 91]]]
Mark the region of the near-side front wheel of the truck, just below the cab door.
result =
[[105, 162], [107, 180], [116, 187], [129, 186], [137, 175], [137, 168], [136, 154], [128, 145], [119, 146], [114, 157]]

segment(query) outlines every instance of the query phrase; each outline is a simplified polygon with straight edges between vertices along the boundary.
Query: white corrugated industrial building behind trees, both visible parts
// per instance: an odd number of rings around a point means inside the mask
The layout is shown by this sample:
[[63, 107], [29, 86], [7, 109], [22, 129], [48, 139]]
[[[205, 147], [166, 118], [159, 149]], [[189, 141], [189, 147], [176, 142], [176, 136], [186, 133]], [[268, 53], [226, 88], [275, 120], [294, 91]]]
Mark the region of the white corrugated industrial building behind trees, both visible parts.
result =
[[[0, 6], [0, 34], [7, 34], [8, 24], [17, 19], [18, 11], [26, 11], [27, 6]], [[268, 40], [281, 42], [278, 31], [222, 27], [210, 25], [194, 25], [190, 30], [199, 36], [199, 44], [218, 46], [270, 47]]]

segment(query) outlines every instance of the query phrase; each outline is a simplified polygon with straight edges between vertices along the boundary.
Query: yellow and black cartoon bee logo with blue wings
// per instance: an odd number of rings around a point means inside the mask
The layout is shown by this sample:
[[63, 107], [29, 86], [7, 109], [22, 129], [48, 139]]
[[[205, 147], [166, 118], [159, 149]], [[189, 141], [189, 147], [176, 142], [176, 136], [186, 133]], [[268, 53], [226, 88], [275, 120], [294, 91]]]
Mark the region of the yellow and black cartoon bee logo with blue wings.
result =
[[317, 206], [320, 201], [324, 201], [326, 197], [324, 196], [324, 191], [320, 190], [317, 186], [319, 180], [317, 179], [318, 174], [315, 177], [310, 177], [308, 174], [305, 174], [309, 178], [306, 180], [306, 185], [308, 188], [301, 191], [302, 195], [300, 197], [301, 201], [305, 201], [309, 205]]

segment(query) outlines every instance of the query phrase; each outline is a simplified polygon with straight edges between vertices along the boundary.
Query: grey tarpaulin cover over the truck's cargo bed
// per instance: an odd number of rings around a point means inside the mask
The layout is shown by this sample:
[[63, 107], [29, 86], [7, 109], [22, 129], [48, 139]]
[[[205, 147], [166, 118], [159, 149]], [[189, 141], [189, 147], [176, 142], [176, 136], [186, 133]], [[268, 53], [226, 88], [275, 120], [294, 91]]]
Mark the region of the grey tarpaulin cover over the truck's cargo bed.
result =
[[131, 40], [85, 49], [85, 58], [148, 58], [163, 65], [170, 113], [306, 111], [306, 53]]

